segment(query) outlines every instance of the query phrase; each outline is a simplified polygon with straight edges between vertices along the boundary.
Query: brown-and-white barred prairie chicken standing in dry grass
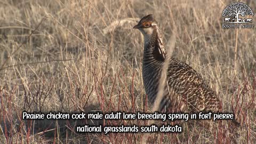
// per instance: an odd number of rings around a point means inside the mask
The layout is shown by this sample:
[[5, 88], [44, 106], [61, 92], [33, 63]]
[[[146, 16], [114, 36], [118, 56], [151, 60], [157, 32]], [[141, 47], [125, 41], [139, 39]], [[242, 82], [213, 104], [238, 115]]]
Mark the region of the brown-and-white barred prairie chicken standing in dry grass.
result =
[[[154, 103], [167, 53], [157, 21], [152, 14], [143, 17], [133, 28], [139, 29], [144, 36], [143, 83], [149, 101]], [[215, 92], [202, 76], [185, 62], [171, 58], [166, 80], [159, 111], [164, 111], [165, 108], [171, 108], [172, 112], [219, 111], [219, 99]]]

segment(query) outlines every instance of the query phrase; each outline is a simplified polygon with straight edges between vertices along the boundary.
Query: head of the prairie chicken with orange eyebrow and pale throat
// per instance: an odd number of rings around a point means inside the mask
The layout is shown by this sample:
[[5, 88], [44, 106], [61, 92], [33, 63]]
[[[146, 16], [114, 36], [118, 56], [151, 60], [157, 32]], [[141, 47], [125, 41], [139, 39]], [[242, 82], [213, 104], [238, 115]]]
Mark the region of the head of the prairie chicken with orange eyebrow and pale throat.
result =
[[133, 28], [139, 29], [145, 37], [150, 37], [153, 34], [154, 29], [157, 28], [157, 21], [154, 19], [153, 14], [149, 14], [143, 17]]

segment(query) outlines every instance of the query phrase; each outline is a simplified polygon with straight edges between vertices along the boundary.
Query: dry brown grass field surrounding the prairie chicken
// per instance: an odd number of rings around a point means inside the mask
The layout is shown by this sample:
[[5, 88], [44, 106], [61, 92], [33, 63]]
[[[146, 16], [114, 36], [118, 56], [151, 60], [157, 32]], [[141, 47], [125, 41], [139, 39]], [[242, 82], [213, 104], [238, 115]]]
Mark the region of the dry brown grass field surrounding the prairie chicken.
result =
[[[241, 126], [149, 133], [148, 143], [256, 141], [256, 28], [223, 29], [234, 1], [0, 1], [0, 143], [143, 143], [145, 133], [77, 133], [76, 125], [146, 125], [142, 120], [23, 120], [22, 111], [150, 113], [142, 82], [143, 37], [154, 14], [173, 57], [202, 74]], [[242, 1], [254, 12], [256, 1]], [[255, 27], [255, 26], [254, 26]], [[159, 123], [159, 122], [157, 122]]]

